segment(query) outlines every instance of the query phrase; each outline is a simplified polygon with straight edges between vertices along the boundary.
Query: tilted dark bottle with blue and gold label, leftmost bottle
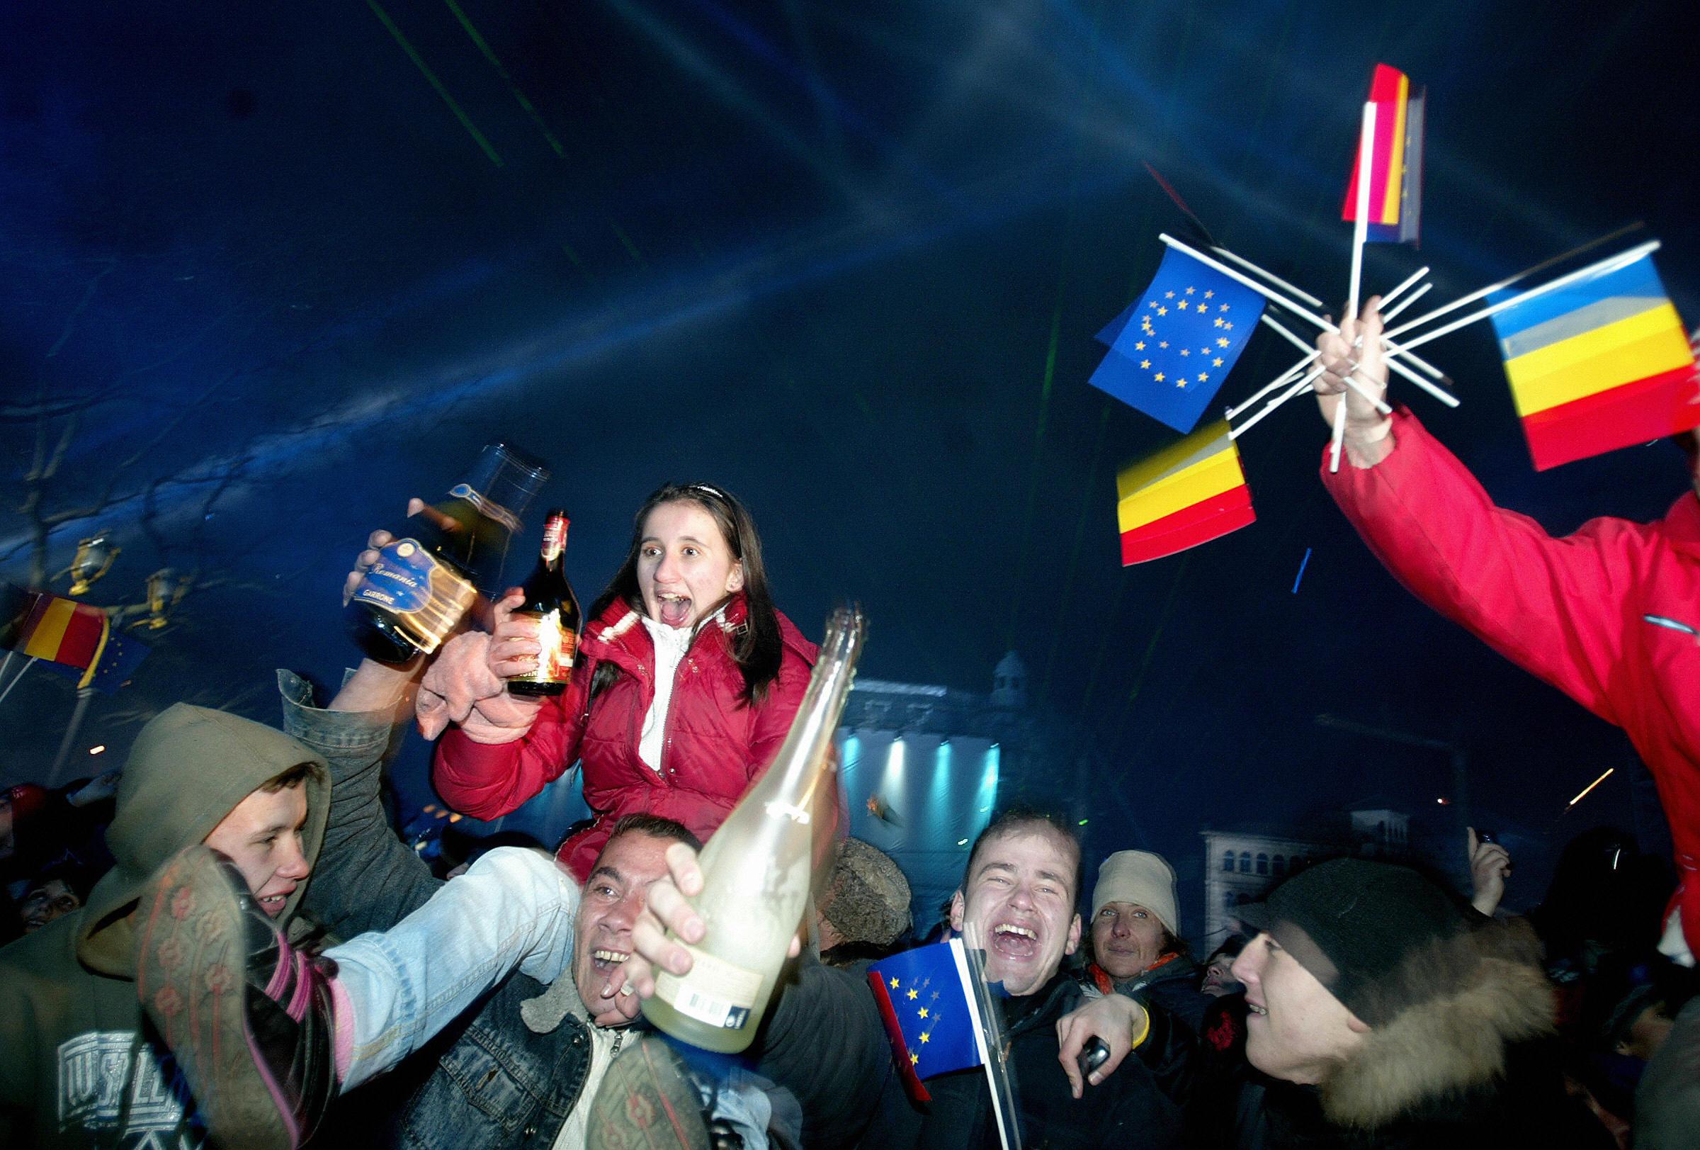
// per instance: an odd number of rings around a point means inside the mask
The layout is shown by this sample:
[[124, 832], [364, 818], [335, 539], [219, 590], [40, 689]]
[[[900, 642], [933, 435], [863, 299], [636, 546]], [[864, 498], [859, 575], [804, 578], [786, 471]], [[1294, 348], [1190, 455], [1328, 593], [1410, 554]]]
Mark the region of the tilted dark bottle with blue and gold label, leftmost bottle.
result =
[[549, 470], [507, 444], [488, 444], [466, 483], [393, 531], [343, 611], [354, 645], [382, 663], [432, 653], [478, 592], [502, 578], [508, 539]]

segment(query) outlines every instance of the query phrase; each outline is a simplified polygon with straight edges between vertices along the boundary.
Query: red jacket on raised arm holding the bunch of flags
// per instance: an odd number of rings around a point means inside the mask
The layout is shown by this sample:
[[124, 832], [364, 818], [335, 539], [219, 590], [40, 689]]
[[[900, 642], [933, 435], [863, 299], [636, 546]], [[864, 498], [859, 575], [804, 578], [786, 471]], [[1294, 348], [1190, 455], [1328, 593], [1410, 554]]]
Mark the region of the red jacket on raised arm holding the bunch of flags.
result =
[[1700, 500], [1664, 519], [1591, 519], [1554, 539], [1494, 507], [1409, 412], [1374, 468], [1323, 483], [1370, 551], [1418, 599], [1608, 723], [1624, 728], [1671, 820], [1688, 949], [1700, 954]]

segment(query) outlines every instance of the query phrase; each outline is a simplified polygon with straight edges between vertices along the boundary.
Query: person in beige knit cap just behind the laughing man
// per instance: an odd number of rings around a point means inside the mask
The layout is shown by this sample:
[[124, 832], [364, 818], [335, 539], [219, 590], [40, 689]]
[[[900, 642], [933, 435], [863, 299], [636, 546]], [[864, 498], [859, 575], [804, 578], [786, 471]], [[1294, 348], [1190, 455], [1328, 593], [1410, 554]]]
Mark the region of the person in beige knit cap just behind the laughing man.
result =
[[1085, 980], [1088, 993], [1161, 1005], [1198, 1034], [1210, 1000], [1176, 922], [1175, 868], [1151, 851], [1117, 851], [1091, 890]]

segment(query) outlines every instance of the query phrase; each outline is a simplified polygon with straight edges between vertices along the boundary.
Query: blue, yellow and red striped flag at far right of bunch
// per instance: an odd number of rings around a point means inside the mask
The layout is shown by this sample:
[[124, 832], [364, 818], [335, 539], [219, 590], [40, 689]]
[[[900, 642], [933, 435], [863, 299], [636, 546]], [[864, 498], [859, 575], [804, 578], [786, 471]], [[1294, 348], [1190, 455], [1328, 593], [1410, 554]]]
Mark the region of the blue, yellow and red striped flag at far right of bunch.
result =
[[1642, 255], [1493, 315], [1535, 470], [1700, 425], [1681, 316]]

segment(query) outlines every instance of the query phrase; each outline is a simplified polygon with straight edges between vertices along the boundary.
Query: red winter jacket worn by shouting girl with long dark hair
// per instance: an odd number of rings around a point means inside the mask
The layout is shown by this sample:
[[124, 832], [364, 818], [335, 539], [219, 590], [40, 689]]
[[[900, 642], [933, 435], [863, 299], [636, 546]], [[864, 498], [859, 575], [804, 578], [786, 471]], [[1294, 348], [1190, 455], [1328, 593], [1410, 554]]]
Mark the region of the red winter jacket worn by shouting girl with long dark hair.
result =
[[[678, 662], [660, 772], [638, 757], [643, 716], [654, 699], [654, 641], [636, 611], [614, 602], [585, 628], [571, 682], [544, 701], [525, 738], [486, 745], [459, 728], [444, 733], [432, 762], [437, 793], [457, 811], [496, 818], [561, 777], [573, 762], [583, 762], [585, 803], [595, 825], [556, 852], [580, 881], [588, 878], [622, 815], [665, 815], [707, 839], [774, 760], [814, 663], [814, 645], [779, 616], [784, 638], [779, 677], [760, 704], [745, 703], [743, 675], [728, 638], [746, 614], [745, 597], [734, 595]], [[590, 680], [605, 662], [622, 674], [592, 699]]]

